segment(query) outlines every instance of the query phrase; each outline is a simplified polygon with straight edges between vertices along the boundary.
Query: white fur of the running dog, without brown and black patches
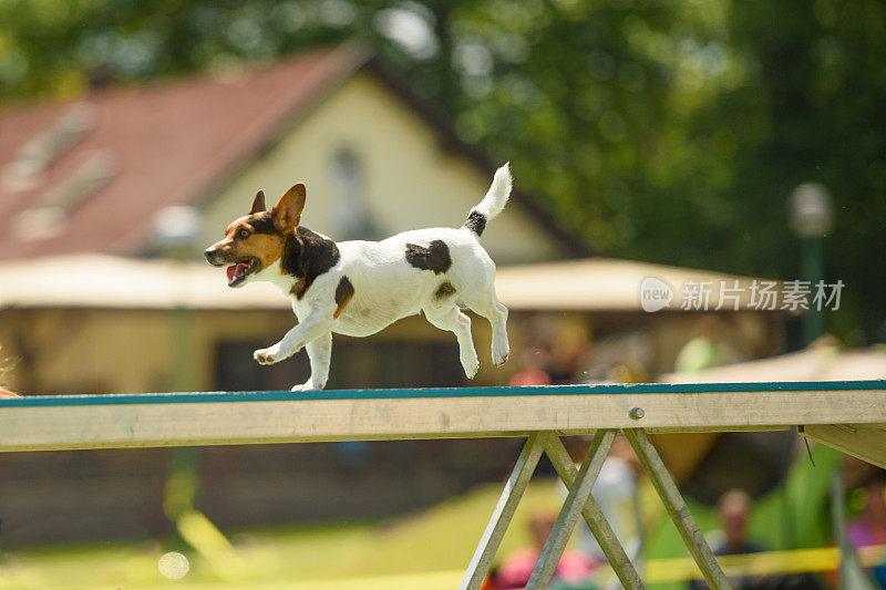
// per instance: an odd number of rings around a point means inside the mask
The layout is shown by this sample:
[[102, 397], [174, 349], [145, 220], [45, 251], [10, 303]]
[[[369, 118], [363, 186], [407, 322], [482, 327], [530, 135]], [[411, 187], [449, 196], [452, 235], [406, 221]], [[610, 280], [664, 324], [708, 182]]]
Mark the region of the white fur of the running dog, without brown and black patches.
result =
[[[486, 220], [498, 215], [511, 195], [511, 184], [509, 166], [505, 164], [496, 170], [486, 196], [472, 213], [483, 215]], [[415, 268], [404, 257], [408, 244], [427, 247], [433, 240], [443, 240], [449, 247], [452, 263], [444, 273]], [[381, 241], [342, 241], [337, 246], [338, 262], [317, 277], [301, 300], [292, 301], [298, 324], [276, 344], [253, 354], [261, 364], [274, 364], [307, 348], [311, 376], [292, 391], [323, 389], [329, 376], [333, 332], [367, 337], [420, 311], [435, 327], [455, 334], [465, 375], [473, 379], [478, 366], [477, 354], [471, 337], [471, 319], [459, 309], [460, 301], [492, 324], [493, 363], [499, 365], [507, 360], [507, 308], [495, 296], [495, 263], [474, 231], [467, 227], [416, 229]], [[334, 318], [336, 289], [342, 277], [348, 277], [353, 286], [353, 297]], [[272, 282], [291, 297], [297, 278], [281, 272], [278, 260], [247, 277], [249, 280]], [[454, 287], [455, 297], [434, 296], [445, 281]]]

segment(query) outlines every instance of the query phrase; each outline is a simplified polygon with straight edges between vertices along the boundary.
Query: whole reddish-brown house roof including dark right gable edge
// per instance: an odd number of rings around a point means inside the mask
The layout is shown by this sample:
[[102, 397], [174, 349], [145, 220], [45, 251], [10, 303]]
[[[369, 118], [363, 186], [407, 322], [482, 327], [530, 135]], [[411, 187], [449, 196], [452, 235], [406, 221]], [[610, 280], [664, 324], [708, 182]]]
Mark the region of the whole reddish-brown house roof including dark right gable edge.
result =
[[[316, 50], [238, 75], [200, 75], [92, 94], [79, 103], [0, 111], [0, 259], [71, 252], [137, 256], [152, 249], [164, 207], [199, 205], [286, 123], [365, 70], [405, 100], [446, 148], [492, 169], [426, 102], [351, 45]], [[528, 208], [573, 255], [581, 240], [525, 194]]]

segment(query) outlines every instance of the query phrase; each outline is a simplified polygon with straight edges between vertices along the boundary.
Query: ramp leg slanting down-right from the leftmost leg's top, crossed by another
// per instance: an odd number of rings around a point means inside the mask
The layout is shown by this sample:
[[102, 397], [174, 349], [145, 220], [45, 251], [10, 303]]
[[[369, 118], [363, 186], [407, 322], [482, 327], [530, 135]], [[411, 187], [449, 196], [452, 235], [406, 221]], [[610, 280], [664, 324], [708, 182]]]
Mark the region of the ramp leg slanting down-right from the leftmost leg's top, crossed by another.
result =
[[[558, 436], [554, 436], [550, 433], [545, 435], [545, 453], [566, 488], [571, 489], [575, 478], [578, 475], [578, 469], [575, 468], [569, 453], [567, 453], [566, 447], [563, 446], [563, 442]], [[618, 537], [616, 537], [612, 527], [609, 526], [609, 521], [606, 520], [606, 516], [604, 516], [594, 496], [588, 496], [587, 503], [581, 509], [581, 516], [588, 524], [588, 528], [590, 528], [594, 538], [597, 539], [597, 542], [600, 545], [606, 560], [616, 572], [616, 576], [618, 576], [621, 586], [628, 590], [641, 590], [645, 588], [640, 575], [637, 573], [633, 565], [630, 562], [630, 558], [625, 552], [625, 548], [621, 547], [621, 542], [619, 542]]]

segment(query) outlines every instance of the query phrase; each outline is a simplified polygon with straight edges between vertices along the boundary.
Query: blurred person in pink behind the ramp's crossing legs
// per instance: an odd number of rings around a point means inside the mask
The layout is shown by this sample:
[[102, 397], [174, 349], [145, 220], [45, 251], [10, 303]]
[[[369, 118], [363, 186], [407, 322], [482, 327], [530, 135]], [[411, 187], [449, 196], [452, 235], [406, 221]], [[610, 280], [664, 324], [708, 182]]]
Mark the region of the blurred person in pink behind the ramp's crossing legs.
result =
[[[536, 513], [529, 519], [533, 546], [514, 551], [505, 558], [502, 565], [494, 570], [484, 582], [484, 590], [511, 590], [525, 588], [532, 577], [538, 556], [545, 547], [545, 541], [556, 522], [556, 517], [550, 513]], [[552, 588], [585, 588], [578, 586], [587, 582], [599, 563], [581, 551], [566, 549], [560, 557], [557, 569], [554, 570]]]

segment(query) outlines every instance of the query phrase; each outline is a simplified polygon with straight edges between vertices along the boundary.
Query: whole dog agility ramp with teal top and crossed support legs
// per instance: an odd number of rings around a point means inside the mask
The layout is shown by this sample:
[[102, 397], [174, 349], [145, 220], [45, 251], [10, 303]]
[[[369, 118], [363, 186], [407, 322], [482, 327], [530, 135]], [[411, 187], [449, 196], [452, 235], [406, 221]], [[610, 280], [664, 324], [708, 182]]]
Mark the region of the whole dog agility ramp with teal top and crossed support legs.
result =
[[[649, 433], [799, 431], [886, 467], [886, 381], [33, 396], [0, 401], [0, 451], [525, 436], [463, 589], [480, 588], [542, 453], [569, 489], [527, 588], [545, 588], [583, 517], [621, 583], [643, 588], [590, 494], [630, 441], [704, 579], [729, 588]], [[560, 435], [596, 434], [576, 470]]]

